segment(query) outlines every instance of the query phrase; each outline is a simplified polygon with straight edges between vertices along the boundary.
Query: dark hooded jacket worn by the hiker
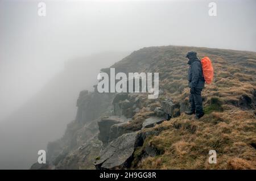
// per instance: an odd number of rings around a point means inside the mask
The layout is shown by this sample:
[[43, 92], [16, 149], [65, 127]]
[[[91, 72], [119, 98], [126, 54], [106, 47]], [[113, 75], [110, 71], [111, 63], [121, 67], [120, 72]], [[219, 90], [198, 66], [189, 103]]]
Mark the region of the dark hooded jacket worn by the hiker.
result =
[[196, 56], [189, 57], [188, 65], [189, 87], [203, 89], [205, 81], [201, 61]]

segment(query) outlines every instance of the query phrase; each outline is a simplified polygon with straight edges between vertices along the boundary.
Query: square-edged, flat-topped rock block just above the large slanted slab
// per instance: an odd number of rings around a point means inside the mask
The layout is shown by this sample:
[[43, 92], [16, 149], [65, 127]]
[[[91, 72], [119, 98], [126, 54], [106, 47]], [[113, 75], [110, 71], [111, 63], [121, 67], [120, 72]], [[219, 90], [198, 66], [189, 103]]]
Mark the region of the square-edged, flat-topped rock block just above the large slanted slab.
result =
[[100, 129], [98, 139], [104, 144], [107, 143], [110, 137], [110, 127], [115, 124], [124, 123], [125, 121], [127, 121], [127, 119], [123, 116], [110, 116], [102, 118], [100, 121], [98, 121], [98, 128]]

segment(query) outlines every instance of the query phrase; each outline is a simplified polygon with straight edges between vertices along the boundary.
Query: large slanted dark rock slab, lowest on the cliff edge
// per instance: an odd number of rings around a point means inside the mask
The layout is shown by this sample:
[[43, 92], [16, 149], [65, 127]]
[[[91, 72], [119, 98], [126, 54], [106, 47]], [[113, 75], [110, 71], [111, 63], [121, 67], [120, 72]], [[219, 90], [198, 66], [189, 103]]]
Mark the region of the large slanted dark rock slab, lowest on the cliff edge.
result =
[[124, 169], [129, 167], [129, 158], [137, 144], [138, 132], [122, 134], [100, 152], [100, 159], [94, 162], [96, 169]]

